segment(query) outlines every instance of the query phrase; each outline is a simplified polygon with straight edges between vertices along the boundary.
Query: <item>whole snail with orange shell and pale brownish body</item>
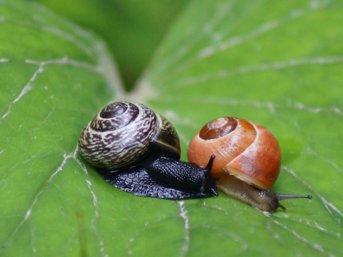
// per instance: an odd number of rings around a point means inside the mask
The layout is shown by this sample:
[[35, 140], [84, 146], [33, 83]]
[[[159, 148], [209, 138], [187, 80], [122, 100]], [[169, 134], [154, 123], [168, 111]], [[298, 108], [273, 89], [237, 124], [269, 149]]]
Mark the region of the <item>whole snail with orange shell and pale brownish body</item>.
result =
[[269, 190], [281, 168], [281, 150], [273, 134], [259, 124], [224, 117], [207, 123], [191, 140], [188, 160], [204, 167], [211, 155], [216, 158], [211, 174], [219, 178], [224, 193], [264, 211], [282, 208], [283, 199], [308, 198]]

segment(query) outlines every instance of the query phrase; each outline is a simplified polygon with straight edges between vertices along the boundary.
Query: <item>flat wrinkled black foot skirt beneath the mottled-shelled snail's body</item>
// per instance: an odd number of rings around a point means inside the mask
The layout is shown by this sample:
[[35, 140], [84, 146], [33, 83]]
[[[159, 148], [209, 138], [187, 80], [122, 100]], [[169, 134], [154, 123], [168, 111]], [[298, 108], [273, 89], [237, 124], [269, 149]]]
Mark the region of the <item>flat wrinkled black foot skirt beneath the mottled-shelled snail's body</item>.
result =
[[111, 185], [138, 196], [180, 200], [208, 198], [214, 195], [213, 192], [181, 191], [163, 186], [153, 180], [143, 167], [134, 167], [122, 172], [102, 172], [101, 169], [97, 171]]

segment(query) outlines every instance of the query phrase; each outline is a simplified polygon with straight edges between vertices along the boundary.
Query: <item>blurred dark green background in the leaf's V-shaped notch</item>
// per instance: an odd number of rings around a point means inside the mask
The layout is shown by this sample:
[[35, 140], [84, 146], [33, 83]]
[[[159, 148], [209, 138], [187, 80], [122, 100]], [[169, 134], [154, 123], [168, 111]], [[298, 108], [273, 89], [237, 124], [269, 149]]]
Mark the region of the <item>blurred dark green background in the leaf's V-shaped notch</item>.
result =
[[38, 0], [100, 35], [127, 90], [151, 58], [187, 0]]

